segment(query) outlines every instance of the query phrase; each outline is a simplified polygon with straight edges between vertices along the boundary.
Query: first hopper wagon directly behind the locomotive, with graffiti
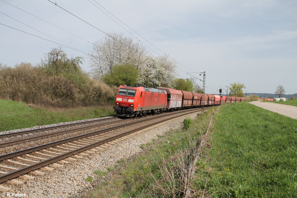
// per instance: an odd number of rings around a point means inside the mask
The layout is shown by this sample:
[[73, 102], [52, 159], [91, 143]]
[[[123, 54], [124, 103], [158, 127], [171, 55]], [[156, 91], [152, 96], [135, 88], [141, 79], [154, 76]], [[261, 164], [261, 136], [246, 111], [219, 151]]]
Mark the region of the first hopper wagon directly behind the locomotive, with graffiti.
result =
[[175, 110], [181, 108], [183, 93], [181, 90], [170, 89], [166, 87], [158, 87], [159, 90], [167, 92], [167, 109]]

